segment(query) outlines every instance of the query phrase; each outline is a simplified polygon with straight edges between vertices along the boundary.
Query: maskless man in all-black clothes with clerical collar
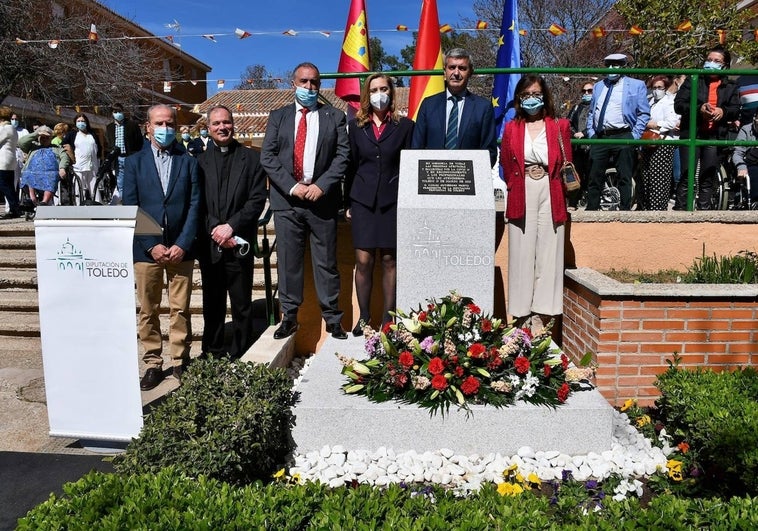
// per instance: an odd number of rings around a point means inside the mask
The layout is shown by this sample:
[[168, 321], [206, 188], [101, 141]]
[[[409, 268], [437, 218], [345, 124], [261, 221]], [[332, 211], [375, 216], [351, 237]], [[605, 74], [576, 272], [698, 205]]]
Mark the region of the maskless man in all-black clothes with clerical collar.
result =
[[203, 353], [224, 355], [226, 294], [232, 307], [228, 353], [241, 357], [253, 343], [253, 254], [258, 218], [266, 205], [266, 175], [256, 151], [234, 139], [229, 109], [208, 111], [213, 142], [197, 156], [204, 216], [198, 233], [203, 282]]

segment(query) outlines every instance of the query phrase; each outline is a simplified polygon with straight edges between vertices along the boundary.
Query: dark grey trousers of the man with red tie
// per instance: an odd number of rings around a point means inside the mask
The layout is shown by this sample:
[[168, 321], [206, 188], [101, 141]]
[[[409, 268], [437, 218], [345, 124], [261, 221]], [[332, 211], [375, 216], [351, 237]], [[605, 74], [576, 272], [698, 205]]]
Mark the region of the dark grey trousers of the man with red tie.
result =
[[340, 276], [337, 269], [337, 216], [321, 217], [307, 208], [274, 212], [277, 236], [279, 305], [284, 319], [297, 321], [303, 303], [306, 238], [310, 240], [313, 281], [326, 324], [339, 324]]

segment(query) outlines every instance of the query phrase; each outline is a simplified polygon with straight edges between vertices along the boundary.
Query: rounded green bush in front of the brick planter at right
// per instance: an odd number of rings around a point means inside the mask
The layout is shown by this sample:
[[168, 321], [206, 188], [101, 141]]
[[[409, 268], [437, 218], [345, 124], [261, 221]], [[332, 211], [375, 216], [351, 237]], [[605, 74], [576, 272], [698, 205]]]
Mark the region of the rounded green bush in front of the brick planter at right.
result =
[[658, 376], [666, 430], [689, 443], [712, 490], [758, 495], [758, 372], [681, 370]]

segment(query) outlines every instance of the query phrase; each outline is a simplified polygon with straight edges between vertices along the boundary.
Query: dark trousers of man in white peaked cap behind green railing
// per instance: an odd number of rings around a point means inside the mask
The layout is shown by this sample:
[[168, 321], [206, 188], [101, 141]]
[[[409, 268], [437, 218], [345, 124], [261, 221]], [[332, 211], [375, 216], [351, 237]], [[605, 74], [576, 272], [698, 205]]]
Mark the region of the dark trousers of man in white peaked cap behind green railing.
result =
[[[631, 139], [632, 133], [626, 132], [619, 135], [606, 135], [602, 138], [608, 139]], [[620, 144], [594, 144], [590, 148], [590, 158], [592, 165], [590, 169], [589, 182], [587, 183], [587, 210], [597, 210], [600, 208], [600, 196], [603, 193], [603, 183], [605, 183], [605, 171], [609, 167], [611, 157], [616, 159], [616, 187], [621, 194], [621, 210], [632, 208], [632, 176], [634, 175], [634, 146]]]

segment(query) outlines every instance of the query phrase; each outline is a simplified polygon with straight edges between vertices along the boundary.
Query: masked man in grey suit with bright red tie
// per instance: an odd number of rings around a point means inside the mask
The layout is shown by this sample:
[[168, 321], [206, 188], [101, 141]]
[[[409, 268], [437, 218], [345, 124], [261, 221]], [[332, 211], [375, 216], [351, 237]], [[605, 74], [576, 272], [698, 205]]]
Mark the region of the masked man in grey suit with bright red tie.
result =
[[332, 337], [345, 339], [337, 307], [337, 215], [350, 151], [345, 114], [318, 101], [321, 78], [316, 65], [299, 64], [292, 84], [295, 102], [271, 113], [261, 150], [278, 242], [282, 323], [274, 337], [282, 339], [297, 330], [305, 238], [310, 235], [313, 276], [326, 330]]

